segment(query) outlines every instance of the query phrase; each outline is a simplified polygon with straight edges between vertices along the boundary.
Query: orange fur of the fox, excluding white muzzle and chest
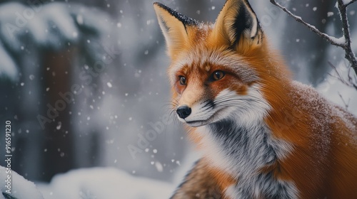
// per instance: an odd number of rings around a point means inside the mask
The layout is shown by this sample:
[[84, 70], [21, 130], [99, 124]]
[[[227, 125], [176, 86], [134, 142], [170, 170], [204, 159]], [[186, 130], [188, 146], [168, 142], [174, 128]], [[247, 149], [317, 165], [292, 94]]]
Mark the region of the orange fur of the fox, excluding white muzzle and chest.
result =
[[[252, 23], [252, 29], [235, 38], [230, 28], [240, 6], [247, 6], [248, 13], [255, 16], [247, 1], [228, 0], [214, 26], [183, 26], [156, 4], [172, 61], [168, 70], [172, 98], [178, 105], [191, 107], [203, 99], [215, 99], [225, 89], [244, 96], [252, 85], [259, 85], [271, 107], [263, 122], [273, 139], [286, 141], [293, 148], [286, 157], [261, 168], [261, 173], [272, 172], [277, 180], [293, 182], [298, 198], [357, 198], [357, 118], [327, 102], [311, 87], [293, 82], [280, 55], [269, 48], [263, 31], [253, 30], [258, 25]], [[235, 7], [238, 9], [232, 9]], [[204, 61], [209, 59], [212, 61]], [[237, 72], [227, 63], [241, 69]], [[207, 82], [217, 70], [225, 71], [226, 76]], [[179, 75], [186, 76], [187, 85], [177, 85]], [[186, 128], [190, 139], [201, 148], [204, 134], [196, 127]], [[239, 179], [234, 173], [210, 166], [209, 158], [206, 154], [201, 161], [202, 169], [224, 193]]]

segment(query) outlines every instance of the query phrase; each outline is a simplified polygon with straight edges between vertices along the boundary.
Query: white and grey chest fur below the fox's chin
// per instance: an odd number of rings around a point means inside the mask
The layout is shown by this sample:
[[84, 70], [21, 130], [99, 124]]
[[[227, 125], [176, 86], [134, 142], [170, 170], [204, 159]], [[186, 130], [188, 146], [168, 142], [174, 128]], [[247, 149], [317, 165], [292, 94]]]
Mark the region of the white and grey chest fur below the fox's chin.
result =
[[198, 127], [201, 146], [211, 165], [234, 176], [238, 183], [226, 190], [231, 198], [297, 198], [292, 182], [260, 173], [292, 150], [285, 141], [272, 139], [263, 122], [243, 127], [233, 120]]

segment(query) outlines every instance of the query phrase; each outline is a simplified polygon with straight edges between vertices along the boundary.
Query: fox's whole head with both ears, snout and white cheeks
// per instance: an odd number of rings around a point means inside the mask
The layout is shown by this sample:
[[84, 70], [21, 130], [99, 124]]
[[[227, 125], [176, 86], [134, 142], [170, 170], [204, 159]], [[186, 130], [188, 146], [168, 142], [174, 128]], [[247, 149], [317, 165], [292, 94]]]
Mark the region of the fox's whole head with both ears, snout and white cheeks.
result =
[[267, 94], [274, 92], [267, 85], [284, 75], [248, 1], [226, 1], [214, 24], [163, 4], [154, 3], [154, 9], [171, 58], [168, 74], [181, 122], [199, 127], [266, 116]]

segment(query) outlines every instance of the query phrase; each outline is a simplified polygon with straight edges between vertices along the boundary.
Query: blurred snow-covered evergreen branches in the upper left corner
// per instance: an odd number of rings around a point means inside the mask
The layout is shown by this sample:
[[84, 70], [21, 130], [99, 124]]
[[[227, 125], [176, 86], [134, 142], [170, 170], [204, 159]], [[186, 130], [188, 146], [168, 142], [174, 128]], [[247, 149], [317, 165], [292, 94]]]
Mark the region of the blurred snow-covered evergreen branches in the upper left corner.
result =
[[[98, 11], [61, 3], [24, 6], [6, 2], [0, 6], [0, 75], [16, 80], [19, 72], [14, 58], [26, 50], [28, 41], [40, 47], [64, 48], [62, 43], [80, 42], [81, 31], [90, 30], [97, 36], [109, 31], [107, 16]], [[86, 33], [86, 36], [89, 34]]]

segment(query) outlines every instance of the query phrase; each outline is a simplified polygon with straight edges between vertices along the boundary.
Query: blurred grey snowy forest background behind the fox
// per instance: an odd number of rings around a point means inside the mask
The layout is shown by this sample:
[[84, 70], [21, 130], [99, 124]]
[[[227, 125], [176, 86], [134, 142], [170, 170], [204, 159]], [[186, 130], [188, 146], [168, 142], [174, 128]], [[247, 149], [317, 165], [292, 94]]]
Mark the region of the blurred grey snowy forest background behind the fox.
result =
[[[342, 36], [336, 1], [280, 2], [321, 31]], [[162, 131], [156, 125], [169, 112], [170, 88], [169, 58], [153, 3], [0, 1], [0, 127], [11, 121], [14, 171], [30, 181], [50, 181], [74, 168], [112, 166], [172, 181], [192, 149], [181, 125], [165, 124]], [[161, 3], [198, 21], [214, 22], [224, 1]], [[356, 114], [357, 91], [328, 75], [333, 72], [328, 62], [347, 75], [343, 50], [269, 1], [251, 0], [251, 5], [294, 78], [333, 102], [344, 100]], [[356, 11], [357, 4], [348, 7], [354, 52]], [[155, 138], [141, 141], [153, 130]], [[0, 136], [2, 157], [4, 138]], [[134, 156], [129, 148], [136, 149]]]

